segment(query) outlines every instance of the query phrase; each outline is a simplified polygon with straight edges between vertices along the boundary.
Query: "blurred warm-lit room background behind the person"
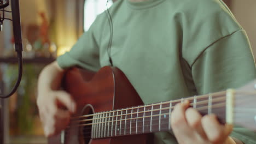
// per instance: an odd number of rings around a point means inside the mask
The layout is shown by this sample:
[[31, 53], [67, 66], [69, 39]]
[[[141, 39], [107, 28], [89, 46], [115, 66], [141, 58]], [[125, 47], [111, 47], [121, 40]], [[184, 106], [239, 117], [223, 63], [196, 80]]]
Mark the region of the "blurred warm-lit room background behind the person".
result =
[[[0, 139], [3, 138], [0, 143], [46, 143], [36, 106], [39, 72], [71, 49], [97, 14], [106, 9], [106, 1], [20, 0], [24, 74], [18, 91], [8, 99], [0, 99]], [[256, 56], [256, 1], [224, 2], [246, 30]], [[108, 6], [111, 4], [112, 1]], [[11, 18], [11, 14], [5, 13], [5, 17]], [[5, 20], [3, 24], [3, 31], [0, 31], [0, 93], [8, 93], [17, 79], [18, 65], [12, 22]]]

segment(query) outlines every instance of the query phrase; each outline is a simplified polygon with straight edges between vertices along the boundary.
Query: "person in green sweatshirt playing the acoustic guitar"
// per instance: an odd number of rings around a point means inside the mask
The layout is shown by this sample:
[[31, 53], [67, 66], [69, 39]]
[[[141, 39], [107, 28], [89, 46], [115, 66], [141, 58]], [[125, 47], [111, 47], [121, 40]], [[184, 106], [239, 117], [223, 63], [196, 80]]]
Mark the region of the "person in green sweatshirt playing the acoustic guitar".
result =
[[[118, 0], [109, 14], [111, 21], [98, 15], [72, 50], [40, 73], [37, 105], [45, 136], [60, 134], [78, 111], [76, 98], [61, 89], [70, 67], [113, 65], [144, 104], [238, 88], [256, 78], [247, 35], [222, 1]], [[153, 143], [256, 143], [254, 132], [201, 115], [190, 103], [174, 106], [172, 130], [154, 133]]]

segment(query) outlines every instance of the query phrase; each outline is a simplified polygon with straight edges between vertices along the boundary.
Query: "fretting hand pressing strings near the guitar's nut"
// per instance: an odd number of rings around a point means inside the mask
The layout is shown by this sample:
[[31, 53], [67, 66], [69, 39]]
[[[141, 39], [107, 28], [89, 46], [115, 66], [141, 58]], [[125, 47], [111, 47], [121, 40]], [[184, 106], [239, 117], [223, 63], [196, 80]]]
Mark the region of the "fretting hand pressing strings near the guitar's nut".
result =
[[234, 143], [229, 137], [232, 125], [220, 124], [213, 114], [201, 116], [197, 110], [189, 107], [189, 101], [174, 107], [171, 125], [180, 144]]

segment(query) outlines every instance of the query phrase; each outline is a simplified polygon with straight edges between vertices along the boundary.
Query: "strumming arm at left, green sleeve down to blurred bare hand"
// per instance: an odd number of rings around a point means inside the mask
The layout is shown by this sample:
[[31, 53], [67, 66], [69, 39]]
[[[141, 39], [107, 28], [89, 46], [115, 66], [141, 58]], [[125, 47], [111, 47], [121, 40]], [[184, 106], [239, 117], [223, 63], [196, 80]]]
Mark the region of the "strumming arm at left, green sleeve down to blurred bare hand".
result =
[[[58, 134], [64, 129], [71, 113], [75, 111], [71, 95], [60, 90], [65, 69], [74, 66], [92, 71], [100, 69], [100, 53], [96, 41], [99, 39], [96, 35], [101, 34], [100, 24], [97, 18], [69, 52], [57, 57], [56, 62], [47, 65], [39, 75], [37, 105], [46, 136]], [[63, 110], [63, 106], [66, 110]]]

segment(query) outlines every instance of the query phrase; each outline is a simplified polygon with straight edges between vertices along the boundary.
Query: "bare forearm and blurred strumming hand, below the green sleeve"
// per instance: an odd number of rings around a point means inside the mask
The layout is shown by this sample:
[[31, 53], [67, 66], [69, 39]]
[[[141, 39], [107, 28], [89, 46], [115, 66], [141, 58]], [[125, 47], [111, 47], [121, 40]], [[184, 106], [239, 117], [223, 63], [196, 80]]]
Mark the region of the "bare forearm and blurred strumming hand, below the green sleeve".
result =
[[[60, 90], [64, 72], [57, 62], [53, 62], [39, 75], [37, 105], [45, 136], [59, 133], [68, 124], [71, 113], [75, 112], [71, 95]], [[67, 109], [61, 109], [60, 105]]]

